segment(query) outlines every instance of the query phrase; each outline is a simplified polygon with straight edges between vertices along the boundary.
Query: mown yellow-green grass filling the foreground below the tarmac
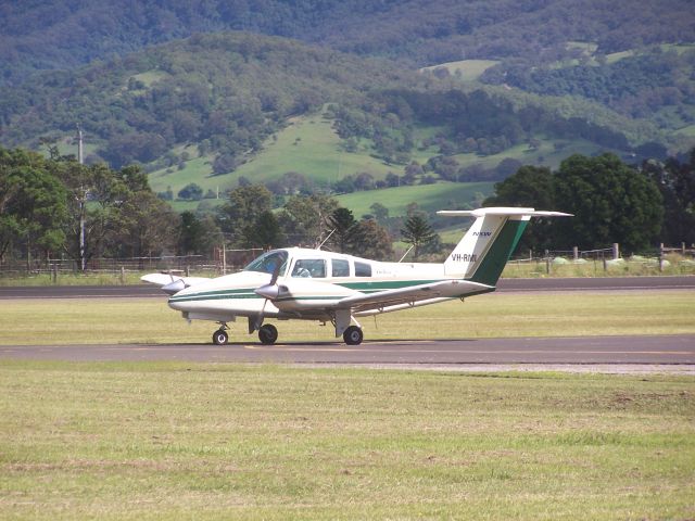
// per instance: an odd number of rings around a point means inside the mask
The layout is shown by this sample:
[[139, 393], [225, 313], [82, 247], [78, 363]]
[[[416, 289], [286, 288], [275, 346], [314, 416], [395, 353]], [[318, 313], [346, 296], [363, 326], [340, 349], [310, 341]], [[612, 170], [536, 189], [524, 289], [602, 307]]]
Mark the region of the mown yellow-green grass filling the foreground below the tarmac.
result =
[[695, 380], [0, 364], [0, 518], [695, 517]]

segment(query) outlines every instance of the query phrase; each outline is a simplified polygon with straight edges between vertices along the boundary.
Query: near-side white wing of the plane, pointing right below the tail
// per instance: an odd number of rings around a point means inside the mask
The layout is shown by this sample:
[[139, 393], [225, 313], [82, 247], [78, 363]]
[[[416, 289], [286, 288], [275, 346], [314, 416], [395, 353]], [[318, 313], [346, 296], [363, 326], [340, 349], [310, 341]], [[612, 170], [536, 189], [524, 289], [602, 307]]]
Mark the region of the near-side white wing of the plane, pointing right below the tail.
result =
[[376, 293], [361, 293], [346, 296], [331, 307], [337, 309], [352, 308], [355, 312], [365, 312], [399, 304], [428, 301], [430, 298], [458, 298], [472, 293], [486, 293], [490, 291], [494, 291], [494, 287], [468, 280], [451, 279], [397, 290], [384, 290]]

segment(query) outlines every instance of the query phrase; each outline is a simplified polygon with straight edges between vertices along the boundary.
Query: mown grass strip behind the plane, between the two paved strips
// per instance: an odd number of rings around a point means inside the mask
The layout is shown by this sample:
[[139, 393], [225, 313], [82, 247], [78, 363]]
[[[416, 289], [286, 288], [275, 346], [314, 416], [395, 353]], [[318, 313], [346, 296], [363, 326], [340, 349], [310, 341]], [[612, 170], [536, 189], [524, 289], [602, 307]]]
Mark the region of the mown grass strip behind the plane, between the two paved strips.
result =
[[[695, 333], [695, 292], [493, 293], [362, 318], [365, 339], [477, 339]], [[269, 320], [273, 321], [273, 320]], [[275, 321], [280, 342], [334, 341], [330, 325]], [[231, 342], [257, 342], [247, 320]], [[0, 345], [210, 343], [214, 322], [187, 323], [166, 298], [0, 301]], [[340, 339], [342, 342], [342, 339]]]

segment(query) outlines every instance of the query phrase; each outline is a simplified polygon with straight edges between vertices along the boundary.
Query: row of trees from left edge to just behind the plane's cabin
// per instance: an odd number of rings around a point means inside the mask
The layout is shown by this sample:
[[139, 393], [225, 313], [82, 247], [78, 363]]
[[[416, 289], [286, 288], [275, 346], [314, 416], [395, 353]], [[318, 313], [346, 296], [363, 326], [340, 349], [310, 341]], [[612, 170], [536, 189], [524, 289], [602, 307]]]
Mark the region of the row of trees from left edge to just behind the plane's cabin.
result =
[[[265, 187], [243, 183], [216, 215], [176, 214], [138, 166], [118, 170], [0, 148], [0, 265], [8, 259], [166, 254], [211, 256], [213, 247], [314, 246], [390, 258], [392, 239], [326, 195], [294, 195], [282, 208]], [[329, 233], [332, 231], [331, 237]]]

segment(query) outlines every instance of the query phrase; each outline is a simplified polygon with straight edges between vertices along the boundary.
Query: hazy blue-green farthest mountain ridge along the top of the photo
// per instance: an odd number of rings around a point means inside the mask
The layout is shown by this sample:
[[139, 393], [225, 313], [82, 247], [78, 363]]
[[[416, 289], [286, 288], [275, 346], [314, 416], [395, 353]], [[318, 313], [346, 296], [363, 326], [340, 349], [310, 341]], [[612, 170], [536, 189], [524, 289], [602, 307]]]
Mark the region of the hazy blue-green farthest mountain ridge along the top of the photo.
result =
[[408, 66], [553, 61], [570, 40], [602, 53], [692, 41], [690, 0], [35, 0], [0, 2], [0, 82], [111, 60], [195, 33], [247, 30]]

